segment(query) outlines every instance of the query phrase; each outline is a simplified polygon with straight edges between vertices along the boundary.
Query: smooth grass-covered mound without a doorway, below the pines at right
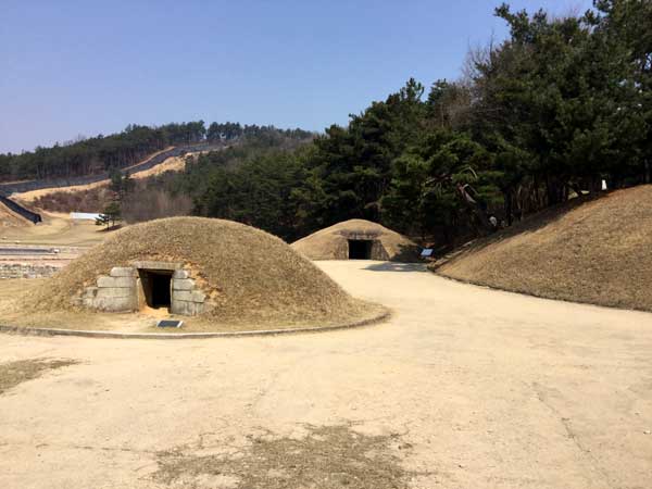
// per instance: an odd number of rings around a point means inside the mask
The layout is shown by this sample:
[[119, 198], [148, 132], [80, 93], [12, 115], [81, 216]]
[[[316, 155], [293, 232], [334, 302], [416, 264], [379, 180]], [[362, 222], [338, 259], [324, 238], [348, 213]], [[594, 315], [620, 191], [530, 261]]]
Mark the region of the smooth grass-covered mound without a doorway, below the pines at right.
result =
[[652, 186], [570, 206], [473, 242], [434, 268], [515, 292], [652, 311]]

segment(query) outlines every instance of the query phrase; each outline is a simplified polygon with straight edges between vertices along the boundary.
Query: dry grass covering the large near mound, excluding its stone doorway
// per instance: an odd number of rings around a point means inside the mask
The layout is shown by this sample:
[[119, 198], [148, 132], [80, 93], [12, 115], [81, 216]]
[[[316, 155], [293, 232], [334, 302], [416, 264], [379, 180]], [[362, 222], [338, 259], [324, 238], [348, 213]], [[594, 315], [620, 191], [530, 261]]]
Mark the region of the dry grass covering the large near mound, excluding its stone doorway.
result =
[[[318, 326], [378, 312], [378, 306], [351, 298], [280, 239], [242, 224], [202, 217], [158, 220], [115, 231], [17, 298], [14, 309], [49, 322], [57, 314], [76, 313], [71, 300], [84, 287], [113, 266], [139, 260], [179, 262], [195, 272], [215, 304], [196, 319], [200, 329], [216, 324]], [[79, 314], [85, 322], [93, 317]], [[95, 329], [88, 323], [86, 328]]]

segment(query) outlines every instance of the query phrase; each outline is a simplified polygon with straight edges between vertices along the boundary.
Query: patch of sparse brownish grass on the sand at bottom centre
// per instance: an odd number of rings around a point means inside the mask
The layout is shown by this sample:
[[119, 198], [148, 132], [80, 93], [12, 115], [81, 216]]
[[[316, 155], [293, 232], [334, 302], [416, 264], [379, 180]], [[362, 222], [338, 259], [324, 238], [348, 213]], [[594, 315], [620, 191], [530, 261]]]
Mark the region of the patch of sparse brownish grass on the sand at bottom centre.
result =
[[195, 454], [189, 447], [159, 452], [153, 479], [192, 489], [403, 489], [416, 474], [401, 466], [397, 452], [409, 448], [398, 435], [361, 435], [348, 425], [309, 427], [304, 438], [251, 437], [249, 446], [226, 454]]

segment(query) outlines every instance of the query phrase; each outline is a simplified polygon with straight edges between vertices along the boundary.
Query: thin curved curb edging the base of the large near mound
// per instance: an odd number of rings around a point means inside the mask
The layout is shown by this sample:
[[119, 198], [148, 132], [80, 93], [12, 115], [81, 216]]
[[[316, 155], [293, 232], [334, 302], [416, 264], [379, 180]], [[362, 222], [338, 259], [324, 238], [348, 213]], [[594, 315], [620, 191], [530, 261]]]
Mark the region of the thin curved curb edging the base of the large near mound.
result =
[[371, 317], [368, 319], [359, 321], [350, 324], [326, 326], [323, 328], [296, 328], [296, 329], [261, 329], [259, 331], [224, 331], [224, 333], [118, 333], [118, 331], [93, 331], [93, 330], [75, 330], [75, 329], [58, 329], [58, 328], [34, 328], [20, 327], [10, 325], [0, 325], [0, 333], [23, 335], [23, 336], [74, 336], [82, 338], [113, 338], [113, 339], [203, 339], [203, 338], [238, 338], [238, 337], [255, 337], [255, 336], [280, 336], [280, 335], [298, 335], [309, 333], [326, 333], [336, 331], [339, 329], [353, 329], [364, 326], [371, 326], [388, 319], [391, 312], [385, 312]]

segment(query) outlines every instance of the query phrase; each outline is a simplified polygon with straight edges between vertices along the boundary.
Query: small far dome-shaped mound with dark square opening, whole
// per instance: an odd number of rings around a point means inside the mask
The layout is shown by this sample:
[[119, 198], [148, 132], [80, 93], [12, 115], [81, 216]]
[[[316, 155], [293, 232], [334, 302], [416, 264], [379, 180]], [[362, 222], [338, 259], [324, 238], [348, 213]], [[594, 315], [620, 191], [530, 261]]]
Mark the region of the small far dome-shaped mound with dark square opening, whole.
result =
[[418, 246], [377, 223], [350, 220], [318, 230], [292, 243], [311, 260], [384, 260], [414, 262]]

